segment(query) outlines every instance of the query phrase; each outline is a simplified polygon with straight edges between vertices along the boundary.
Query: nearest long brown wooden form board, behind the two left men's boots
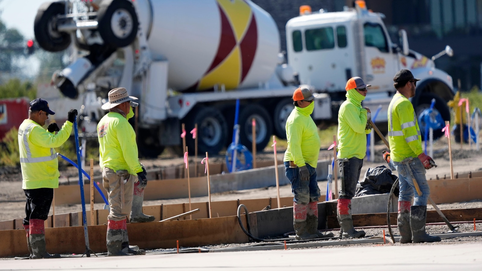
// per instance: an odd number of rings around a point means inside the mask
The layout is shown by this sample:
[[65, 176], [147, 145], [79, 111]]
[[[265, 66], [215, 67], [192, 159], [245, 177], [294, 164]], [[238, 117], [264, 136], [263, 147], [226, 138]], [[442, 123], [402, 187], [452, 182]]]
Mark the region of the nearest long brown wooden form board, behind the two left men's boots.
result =
[[[88, 226], [89, 244], [94, 252], [105, 252], [106, 225]], [[237, 217], [127, 224], [129, 242], [143, 249], [246, 243]], [[25, 230], [0, 230], [0, 257], [27, 255]], [[45, 229], [46, 248], [50, 253], [85, 252], [83, 227]]]

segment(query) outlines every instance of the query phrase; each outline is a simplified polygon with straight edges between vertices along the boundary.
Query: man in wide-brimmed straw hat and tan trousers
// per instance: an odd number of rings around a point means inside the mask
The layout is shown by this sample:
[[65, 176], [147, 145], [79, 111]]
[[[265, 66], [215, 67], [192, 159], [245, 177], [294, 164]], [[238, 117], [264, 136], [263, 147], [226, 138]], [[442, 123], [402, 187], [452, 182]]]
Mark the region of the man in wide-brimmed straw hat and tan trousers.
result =
[[[103, 186], [108, 192], [110, 212], [107, 216], [107, 256], [145, 255], [142, 249], [129, 246], [127, 215], [133, 204], [134, 182], [138, 188], [147, 185], [145, 169], [139, 163], [135, 133], [128, 119], [134, 116], [132, 100], [125, 88], [109, 91], [102, 109], [109, 112], [97, 124], [99, 164]], [[142, 202], [141, 202], [142, 208]]]

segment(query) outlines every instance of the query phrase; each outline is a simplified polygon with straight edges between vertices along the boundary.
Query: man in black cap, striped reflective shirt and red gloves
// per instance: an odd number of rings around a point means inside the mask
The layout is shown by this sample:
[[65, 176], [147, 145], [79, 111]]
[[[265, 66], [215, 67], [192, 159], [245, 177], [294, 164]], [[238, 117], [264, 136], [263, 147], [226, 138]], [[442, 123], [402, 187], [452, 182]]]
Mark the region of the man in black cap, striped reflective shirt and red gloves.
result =
[[[390, 160], [397, 168], [400, 195], [398, 199], [398, 228], [400, 243], [439, 242], [440, 237], [425, 232], [427, 220], [427, 199], [430, 194], [426, 169], [435, 164], [422, 150], [420, 129], [412, 103], [408, 100], [415, 96], [415, 79], [412, 72], [402, 69], [393, 78], [397, 93], [388, 107], [388, 143]], [[387, 159], [388, 153], [384, 154]], [[415, 181], [422, 192], [419, 196]], [[415, 193], [414, 193], [415, 191]], [[414, 205], [411, 205], [415, 194]]]

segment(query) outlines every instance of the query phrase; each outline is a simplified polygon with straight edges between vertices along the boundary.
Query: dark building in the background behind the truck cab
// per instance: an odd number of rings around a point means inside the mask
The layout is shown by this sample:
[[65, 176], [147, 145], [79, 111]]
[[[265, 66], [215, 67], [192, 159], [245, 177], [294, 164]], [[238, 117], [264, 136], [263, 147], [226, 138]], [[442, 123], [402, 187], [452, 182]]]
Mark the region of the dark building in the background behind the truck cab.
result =
[[[342, 11], [353, 7], [353, 0], [253, 0], [273, 16], [281, 35], [281, 50], [286, 50], [286, 22], [299, 15], [301, 5], [313, 11]], [[407, 31], [410, 49], [431, 57], [450, 45], [453, 57], [435, 60], [461, 90], [481, 89], [482, 0], [365, 0], [368, 9], [385, 14], [391, 39], [398, 42], [398, 30]]]

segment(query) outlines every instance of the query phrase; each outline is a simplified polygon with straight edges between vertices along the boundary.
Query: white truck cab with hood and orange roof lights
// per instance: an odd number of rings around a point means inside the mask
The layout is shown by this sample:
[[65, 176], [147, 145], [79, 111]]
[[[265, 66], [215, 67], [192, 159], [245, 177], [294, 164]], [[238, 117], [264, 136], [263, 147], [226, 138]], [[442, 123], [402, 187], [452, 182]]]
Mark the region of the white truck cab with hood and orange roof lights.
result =
[[428, 108], [436, 98], [436, 109], [444, 120], [450, 120], [445, 103], [454, 95], [452, 78], [426, 56], [410, 51], [406, 36], [402, 47], [393, 43], [383, 18], [368, 11], [364, 1], [356, 1], [355, 8], [345, 7], [343, 12], [312, 12], [309, 6], [301, 6], [300, 16], [286, 23], [288, 62], [302, 84], [330, 94], [333, 121], [345, 100], [346, 82], [360, 76], [372, 85], [363, 106], [375, 109], [381, 105], [376, 122], [385, 122], [382, 129], [386, 129], [388, 104], [396, 92], [393, 76], [400, 69], [410, 69], [421, 79], [412, 98], [415, 112]]

